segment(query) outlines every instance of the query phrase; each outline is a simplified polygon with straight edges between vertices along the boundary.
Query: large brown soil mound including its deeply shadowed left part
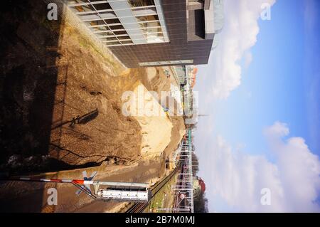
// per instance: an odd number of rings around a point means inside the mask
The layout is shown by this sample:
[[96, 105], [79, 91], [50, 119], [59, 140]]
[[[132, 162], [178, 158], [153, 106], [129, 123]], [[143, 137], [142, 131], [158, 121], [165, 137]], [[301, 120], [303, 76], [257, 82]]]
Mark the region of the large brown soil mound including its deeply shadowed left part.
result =
[[49, 170], [137, 159], [141, 127], [121, 114], [119, 97], [137, 80], [149, 88], [145, 71], [117, 77], [124, 68], [115, 58], [45, 16], [41, 1], [1, 14], [2, 169], [9, 157], [21, 171], [46, 170], [43, 159]]

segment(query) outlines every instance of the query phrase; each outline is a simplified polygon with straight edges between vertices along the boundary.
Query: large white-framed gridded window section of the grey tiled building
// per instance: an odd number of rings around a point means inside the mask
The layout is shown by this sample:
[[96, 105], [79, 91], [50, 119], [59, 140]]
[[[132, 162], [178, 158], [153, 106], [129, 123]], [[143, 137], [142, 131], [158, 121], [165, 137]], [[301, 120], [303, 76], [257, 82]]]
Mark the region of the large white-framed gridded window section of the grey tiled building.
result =
[[160, 0], [68, 0], [107, 46], [169, 42]]

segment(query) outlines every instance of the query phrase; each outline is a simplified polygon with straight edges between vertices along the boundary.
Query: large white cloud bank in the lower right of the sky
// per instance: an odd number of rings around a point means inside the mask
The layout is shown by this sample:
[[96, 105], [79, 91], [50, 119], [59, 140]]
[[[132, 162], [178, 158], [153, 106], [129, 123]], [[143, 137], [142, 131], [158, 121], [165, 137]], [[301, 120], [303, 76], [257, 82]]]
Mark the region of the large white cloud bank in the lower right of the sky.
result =
[[[265, 129], [275, 162], [233, 148], [218, 136], [211, 144], [206, 176], [210, 207], [217, 211], [320, 211], [314, 203], [320, 192], [320, 162], [304, 139], [290, 137], [287, 125], [275, 122]], [[262, 206], [261, 189], [271, 190], [271, 205]], [[227, 208], [219, 210], [221, 201]]]

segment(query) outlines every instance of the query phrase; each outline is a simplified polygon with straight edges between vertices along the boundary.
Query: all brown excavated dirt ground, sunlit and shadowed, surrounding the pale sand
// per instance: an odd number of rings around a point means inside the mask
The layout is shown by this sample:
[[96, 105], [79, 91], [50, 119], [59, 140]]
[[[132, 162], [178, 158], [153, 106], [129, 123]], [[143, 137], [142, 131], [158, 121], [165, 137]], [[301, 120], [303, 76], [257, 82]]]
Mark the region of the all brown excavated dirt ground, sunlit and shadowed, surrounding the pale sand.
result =
[[[0, 170], [29, 174], [92, 167], [98, 168], [98, 179], [112, 181], [163, 176], [164, 159], [181, 141], [183, 118], [170, 117], [171, 141], [162, 157], [150, 161], [141, 156], [142, 128], [134, 117], [122, 115], [120, 97], [138, 82], [147, 90], [169, 90], [170, 79], [159, 70], [150, 81], [144, 68], [125, 69], [63, 20], [49, 23], [42, 1], [9, 1], [1, 10]], [[79, 178], [81, 171], [63, 176]], [[54, 208], [46, 204], [52, 186], [63, 192], [61, 206]], [[119, 206], [92, 204], [75, 191], [4, 181], [0, 202], [6, 211], [115, 211]]]

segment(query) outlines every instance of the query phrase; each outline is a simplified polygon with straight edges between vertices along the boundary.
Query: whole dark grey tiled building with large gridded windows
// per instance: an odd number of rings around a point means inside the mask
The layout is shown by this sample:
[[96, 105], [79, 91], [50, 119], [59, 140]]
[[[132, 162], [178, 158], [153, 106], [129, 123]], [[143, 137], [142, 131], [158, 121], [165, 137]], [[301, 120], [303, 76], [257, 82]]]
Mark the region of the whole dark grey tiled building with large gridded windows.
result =
[[208, 63], [217, 0], [67, 1], [128, 68]]

